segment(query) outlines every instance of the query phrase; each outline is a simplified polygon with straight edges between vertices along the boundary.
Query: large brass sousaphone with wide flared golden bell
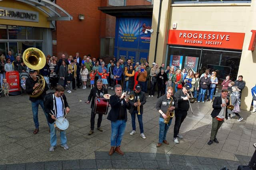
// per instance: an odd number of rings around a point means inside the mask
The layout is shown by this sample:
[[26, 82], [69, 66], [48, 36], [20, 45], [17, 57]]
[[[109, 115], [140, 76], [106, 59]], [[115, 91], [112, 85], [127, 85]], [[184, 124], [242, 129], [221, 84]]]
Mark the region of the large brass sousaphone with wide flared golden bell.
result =
[[[24, 51], [22, 55], [22, 59], [26, 66], [32, 70], [40, 70], [42, 69], [46, 64], [46, 57], [44, 53], [37, 48], [28, 48]], [[34, 89], [32, 92], [32, 95], [30, 97], [37, 98], [42, 94], [44, 91], [46, 82], [44, 80], [44, 77], [42, 75], [37, 74], [36, 77], [38, 78], [38, 84], [39, 86]], [[37, 91], [37, 92], [36, 92]]]

